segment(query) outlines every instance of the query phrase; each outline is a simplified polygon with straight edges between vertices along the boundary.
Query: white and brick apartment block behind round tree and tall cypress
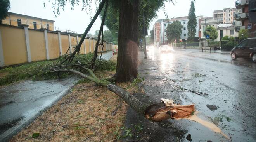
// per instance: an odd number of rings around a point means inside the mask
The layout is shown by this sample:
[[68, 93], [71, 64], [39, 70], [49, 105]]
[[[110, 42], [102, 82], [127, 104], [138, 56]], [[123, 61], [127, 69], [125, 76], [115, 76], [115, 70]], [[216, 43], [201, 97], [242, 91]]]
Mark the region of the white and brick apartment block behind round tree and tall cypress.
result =
[[[201, 19], [201, 16], [197, 17], [196, 19], [197, 19], [197, 27], [196, 27], [195, 37], [199, 37], [199, 19]], [[168, 39], [167, 39], [167, 35], [166, 35], [167, 26], [168, 26], [168, 24], [171, 24], [177, 20], [183, 25], [182, 34], [180, 35], [180, 38], [182, 40], [187, 40], [187, 38], [188, 38], [187, 23], [189, 22], [188, 16], [171, 18], [169, 20], [159, 19], [159, 20], [157, 20], [157, 22], [154, 24], [154, 27], [153, 27], [154, 45], [155, 46], [159, 46], [160, 44], [168, 43]]]

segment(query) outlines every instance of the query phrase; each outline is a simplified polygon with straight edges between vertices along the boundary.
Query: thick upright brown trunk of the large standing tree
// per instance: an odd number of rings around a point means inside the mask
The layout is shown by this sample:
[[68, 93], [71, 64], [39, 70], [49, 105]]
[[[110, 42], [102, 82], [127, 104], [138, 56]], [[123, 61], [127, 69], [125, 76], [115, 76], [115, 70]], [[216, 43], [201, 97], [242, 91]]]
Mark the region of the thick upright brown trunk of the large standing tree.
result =
[[117, 82], [132, 81], [138, 73], [139, 0], [121, 0], [119, 7]]

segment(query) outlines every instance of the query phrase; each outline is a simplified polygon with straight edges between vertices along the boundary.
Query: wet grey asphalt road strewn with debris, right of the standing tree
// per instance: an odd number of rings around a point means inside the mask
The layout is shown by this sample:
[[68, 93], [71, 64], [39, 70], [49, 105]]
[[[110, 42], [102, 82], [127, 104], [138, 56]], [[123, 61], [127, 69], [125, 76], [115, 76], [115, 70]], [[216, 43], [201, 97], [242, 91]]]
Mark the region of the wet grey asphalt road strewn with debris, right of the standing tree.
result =
[[[144, 127], [133, 140], [187, 142], [186, 137], [191, 134], [194, 142], [256, 141], [256, 63], [249, 59], [231, 61], [229, 54], [188, 49], [160, 53], [152, 48], [147, 54], [147, 60], [143, 53], [139, 54], [139, 73], [145, 78], [142, 87], [146, 94], [138, 98], [149, 103], [159, 102], [160, 98], [182, 105], [194, 103], [197, 116], [215, 123], [231, 140], [190, 120], [150, 122], [129, 109], [126, 127]], [[216, 105], [217, 110], [211, 111], [207, 105]]]

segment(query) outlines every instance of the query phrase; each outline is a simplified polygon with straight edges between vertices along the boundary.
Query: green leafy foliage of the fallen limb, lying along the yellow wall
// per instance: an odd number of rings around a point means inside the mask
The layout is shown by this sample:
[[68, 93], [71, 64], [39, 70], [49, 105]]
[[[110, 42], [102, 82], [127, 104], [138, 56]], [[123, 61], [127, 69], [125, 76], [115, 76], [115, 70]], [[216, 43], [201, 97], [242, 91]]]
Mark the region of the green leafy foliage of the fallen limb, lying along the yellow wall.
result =
[[[85, 54], [76, 56], [81, 64], [86, 64], [85, 66], [89, 68], [90, 62], [92, 61], [93, 54]], [[23, 64], [21, 66], [16, 67], [7, 67], [0, 70], [0, 73], [7, 73], [6, 76], [0, 78], [0, 86], [9, 85], [16, 81], [32, 79], [32, 80], [48, 80], [48, 79], [57, 79], [58, 76], [55, 72], [51, 71], [50, 68], [57, 63], [60, 63], [64, 60], [64, 56], [60, 56], [55, 61], [38, 61], [34, 63]], [[75, 63], [74, 59], [71, 64]], [[95, 62], [97, 70], [115, 70], [116, 63], [107, 60], [99, 60], [97, 59]], [[81, 68], [76, 68], [78, 71], [82, 71], [83, 73], [87, 73]], [[65, 78], [69, 76], [70, 73], [61, 73], [61, 77]]]

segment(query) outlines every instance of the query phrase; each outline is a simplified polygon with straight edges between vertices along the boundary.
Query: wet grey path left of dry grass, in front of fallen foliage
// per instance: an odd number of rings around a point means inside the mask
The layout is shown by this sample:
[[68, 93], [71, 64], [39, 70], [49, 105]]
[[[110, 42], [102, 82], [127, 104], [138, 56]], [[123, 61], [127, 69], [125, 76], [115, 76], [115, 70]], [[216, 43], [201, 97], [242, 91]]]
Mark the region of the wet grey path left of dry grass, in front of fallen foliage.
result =
[[6, 141], [62, 98], [79, 78], [23, 81], [0, 89], [0, 141]]

